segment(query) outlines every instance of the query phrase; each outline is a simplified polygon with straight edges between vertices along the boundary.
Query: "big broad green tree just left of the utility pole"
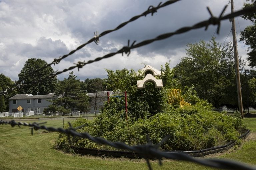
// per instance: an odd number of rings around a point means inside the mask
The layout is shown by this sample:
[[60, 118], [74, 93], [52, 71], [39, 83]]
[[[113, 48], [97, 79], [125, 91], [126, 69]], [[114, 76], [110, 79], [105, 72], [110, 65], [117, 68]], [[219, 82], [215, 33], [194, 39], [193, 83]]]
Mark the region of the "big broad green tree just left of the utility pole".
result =
[[[231, 44], [221, 46], [212, 38], [209, 43], [200, 41], [187, 47], [187, 56], [174, 68], [182, 87], [194, 86], [198, 96], [215, 108], [237, 104]], [[244, 61], [240, 59], [240, 69], [243, 67]]]

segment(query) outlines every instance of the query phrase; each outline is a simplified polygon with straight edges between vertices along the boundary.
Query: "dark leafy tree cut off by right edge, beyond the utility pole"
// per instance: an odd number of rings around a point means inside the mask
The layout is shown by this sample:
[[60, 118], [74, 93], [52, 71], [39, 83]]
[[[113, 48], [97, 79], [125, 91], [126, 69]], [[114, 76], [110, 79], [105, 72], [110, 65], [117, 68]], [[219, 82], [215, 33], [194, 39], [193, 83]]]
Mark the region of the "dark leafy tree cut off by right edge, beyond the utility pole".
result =
[[[244, 8], [256, 6], [256, 0], [246, 0], [251, 1], [251, 3], [244, 3]], [[245, 14], [242, 18], [246, 20], [250, 20], [253, 25], [246, 27], [243, 31], [241, 31], [240, 41], [245, 41], [246, 45], [249, 45], [251, 51], [248, 53], [249, 57], [247, 58], [249, 61], [250, 67], [256, 66], [256, 12]]]

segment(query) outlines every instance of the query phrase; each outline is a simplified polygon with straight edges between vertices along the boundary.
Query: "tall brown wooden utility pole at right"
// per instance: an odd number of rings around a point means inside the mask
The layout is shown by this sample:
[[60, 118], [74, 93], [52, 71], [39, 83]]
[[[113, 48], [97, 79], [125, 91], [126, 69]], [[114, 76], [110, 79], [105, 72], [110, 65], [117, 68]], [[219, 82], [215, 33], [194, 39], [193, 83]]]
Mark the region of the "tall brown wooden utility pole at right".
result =
[[[231, 13], [233, 13], [233, 12], [234, 12], [234, 1], [231, 0]], [[236, 42], [236, 26], [235, 26], [235, 19], [234, 18], [231, 18], [231, 23], [232, 23], [232, 35], [233, 35], [233, 49], [234, 49], [234, 57], [235, 57], [238, 107], [239, 107], [239, 112], [241, 113], [242, 118], [244, 118], [242, 92], [241, 92], [241, 82], [240, 82], [240, 72], [239, 72], [239, 62], [238, 62], [238, 52], [237, 52], [237, 42]]]

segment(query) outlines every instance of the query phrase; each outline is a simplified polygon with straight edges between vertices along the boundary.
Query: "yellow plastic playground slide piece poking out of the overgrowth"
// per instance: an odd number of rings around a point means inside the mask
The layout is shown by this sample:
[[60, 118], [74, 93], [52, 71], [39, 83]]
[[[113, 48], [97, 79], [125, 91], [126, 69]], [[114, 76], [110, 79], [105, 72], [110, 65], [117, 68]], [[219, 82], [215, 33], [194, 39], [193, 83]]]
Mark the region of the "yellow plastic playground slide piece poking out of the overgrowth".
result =
[[180, 89], [169, 89], [170, 92], [168, 94], [168, 103], [173, 104], [177, 101], [180, 101], [180, 107], [183, 106], [191, 106], [190, 103], [185, 102], [183, 97], [181, 96], [181, 90]]

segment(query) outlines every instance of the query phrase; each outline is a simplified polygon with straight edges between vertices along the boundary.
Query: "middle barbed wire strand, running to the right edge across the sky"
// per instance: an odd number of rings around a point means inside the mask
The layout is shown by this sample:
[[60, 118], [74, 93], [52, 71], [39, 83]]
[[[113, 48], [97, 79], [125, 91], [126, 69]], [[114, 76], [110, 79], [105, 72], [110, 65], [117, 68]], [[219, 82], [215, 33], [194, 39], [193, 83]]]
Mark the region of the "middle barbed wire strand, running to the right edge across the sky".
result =
[[[108, 53], [108, 54], [106, 54], [106, 55], [104, 55], [102, 57], [97, 57], [94, 60], [89, 60], [87, 62], [85, 62], [85, 61], [84, 62], [78, 61], [78, 63], [75, 63], [76, 65], [74, 65], [74, 66], [66, 68], [66, 69], [64, 69], [62, 71], [58, 71], [57, 70], [54, 73], [51, 73], [49, 76], [43, 77], [40, 80], [35, 80], [35, 81], [33, 81], [32, 83], [29, 83], [29, 84], [17, 83], [15, 85], [15, 87], [9, 88], [9, 91], [12, 91], [13, 89], [17, 89], [17, 88], [21, 88], [21, 87], [32, 86], [34, 84], [37, 84], [38, 82], [42, 82], [42, 81], [44, 81], [45, 79], [48, 79], [48, 78], [56, 77], [57, 75], [62, 74], [64, 72], [66, 72], [66, 71], [72, 70], [74, 68], [78, 68], [78, 71], [79, 71], [79, 68], [82, 68], [83, 66], [85, 66], [87, 64], [91, 64], [93, 62], [100, 61], [102, 59], [106, 59], [106, 58], [112, 57], [112, 56], [114, 56], [116, 54], [119, 54], [119, 53], [122, 53], [122, 55], [123, 55], [123, 53], [125, 53], [125, 54], [127, 54], [127, 56], [129, 56], [130, 52], [131, 52], [131, 49], [133, 49], [133, 48], [138, 48], [138, 47], [150, 44], [150, 43], [155, 42], [155, 41], [160, 41], [160, 40], [163, 40], [163, 39], [167, 39], [167, 38], [169, 38], [169, 37], [171, 37], [173, 35], [182, 34], [182, 33], [188, 32], [190, 30], [199, 29], [199, 28], [203, 28], [203, 27], [205, 27], [205, 30], [207, 30], [209, 25], [217, 25], [217, 34], [219, 34], [220, 22], [222, 20], [226, 20], [226, 19], [229, 19], [229, 18], [233, 18], [233, 17], [236, 17], [236, 16], [240, 16], [240, 15], [244, 15], [244, 14], [252, 13], [252, 12], [256, 11], [256, 7], [249, 7], [249, 8], [244, 8], [244, 9], [236, 11], [234, 13], [222, 16], [223, 12], [225, 11], [226, 8], [227, 8], [227, 5], [222, 10], [220, 16], [217, 18], [217, 17], [213, 16], [213, 14], [211, 13], [211, 10], [207, 7], [208, 12], [210, 13], [210, 18], [208, 20], [199, 22], [199, 23], [197, 23], [197, 24], [195, 24], [195, 25], [193, 25], [191, 27], [182, 27], [182, 28], [176, 30], [175, 32], [162, 34], [162, 35], [157, 36], [156, 38], [149, 39], [149, 40], [144, 40], [144, 41], [139, 42], [137, 44], [135, 44], [136, 41], [134, 41], [130, 45], [130, 40], [128, 40], [128, 45], [124, 46], [123, 48], [121, 48], [120, 50], [118, 50], [116, 52]], [[0, 92], [0, 95], [4, 95], [6, 93], [8, 93], [8, 90]]]

